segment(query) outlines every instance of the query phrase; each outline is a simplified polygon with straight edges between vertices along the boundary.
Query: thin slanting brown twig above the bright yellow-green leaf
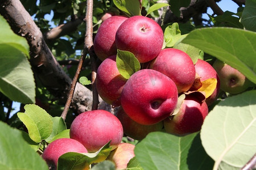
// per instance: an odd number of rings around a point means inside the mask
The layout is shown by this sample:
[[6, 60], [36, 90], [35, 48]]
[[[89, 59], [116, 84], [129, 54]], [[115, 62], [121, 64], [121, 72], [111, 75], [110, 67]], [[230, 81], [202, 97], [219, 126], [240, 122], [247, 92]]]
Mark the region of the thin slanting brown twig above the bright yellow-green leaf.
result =
[[85, 57], [86, 57], [86, 55], [84, 55], [84, 53], [82, 53], [82, 56], [79, 60], [79, 65], [77, 66], [77, 69], [76, 69], [76, 74], [75, 74], [75, 76], [72, 80], [71, 88], [70, 88], [69, 95], [68, 95], [68, 99], [67, 99], [67, 102], [65, 104], [64, 110], [61, 113], [61, 117], [64, 120], [67, 117], [68, 109], [70, 107], [70, 104], [71, 104], [71, 101], [72, 101], [72, 98], [73, 98], [73, 94], [74, 94], [74, 91], [75, 91], [75, 88], [76, 88], [76, 82], [77, 82], [77, 79], [79, 78], [79, 74], [80, 74], [80, 71], [81, 71], [81, 68], [82, 68], [82, 63], [84, 63]]

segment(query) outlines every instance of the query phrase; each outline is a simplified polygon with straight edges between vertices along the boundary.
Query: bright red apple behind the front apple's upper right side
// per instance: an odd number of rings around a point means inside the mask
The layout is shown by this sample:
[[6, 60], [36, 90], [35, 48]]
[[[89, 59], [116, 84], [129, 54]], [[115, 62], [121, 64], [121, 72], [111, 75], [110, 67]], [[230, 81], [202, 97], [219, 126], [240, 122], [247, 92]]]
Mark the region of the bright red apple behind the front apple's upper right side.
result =
[[185, 52], [174, 48], [162, 49], [158, 57], [151, 62], [150, 69], [170, 77], [179, 94], [191, 88], [196, 76], [192, 59]]

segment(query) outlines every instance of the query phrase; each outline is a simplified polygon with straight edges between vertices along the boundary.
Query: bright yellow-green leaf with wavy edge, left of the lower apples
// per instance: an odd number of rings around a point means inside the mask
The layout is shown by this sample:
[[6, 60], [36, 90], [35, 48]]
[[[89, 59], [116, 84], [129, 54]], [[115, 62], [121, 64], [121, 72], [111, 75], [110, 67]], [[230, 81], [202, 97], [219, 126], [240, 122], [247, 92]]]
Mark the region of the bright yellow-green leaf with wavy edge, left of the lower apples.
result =
[[27, 104], [24, 106], [25, 113], [19, 112], [18, 117], [26, 125], [30, 138], [40, 143], [52, 133], [52, 118], [51, 116], [35, 104]]

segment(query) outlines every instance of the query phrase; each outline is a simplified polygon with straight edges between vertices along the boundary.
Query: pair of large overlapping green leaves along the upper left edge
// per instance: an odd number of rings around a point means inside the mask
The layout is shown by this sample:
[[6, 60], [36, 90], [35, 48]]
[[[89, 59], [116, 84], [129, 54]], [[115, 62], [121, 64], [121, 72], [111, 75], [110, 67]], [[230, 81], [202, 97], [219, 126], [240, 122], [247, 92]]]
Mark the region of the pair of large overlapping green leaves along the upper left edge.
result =
[[2, 16], [0, 24], [0, 92], [10, 100], [35, 103], [35, 82], [27, 60], [27, 41], [11, 31]]

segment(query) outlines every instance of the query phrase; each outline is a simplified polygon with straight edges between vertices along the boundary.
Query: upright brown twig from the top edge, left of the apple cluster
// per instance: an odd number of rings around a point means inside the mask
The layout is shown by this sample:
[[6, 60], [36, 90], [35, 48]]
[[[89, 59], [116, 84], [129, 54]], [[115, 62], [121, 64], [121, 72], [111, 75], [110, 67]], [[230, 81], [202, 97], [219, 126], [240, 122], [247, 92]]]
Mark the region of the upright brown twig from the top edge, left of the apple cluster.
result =
[[93, 92], [93, 104], [92, 104], [92, 110], [98, 109], [98, 92], [96, 90], [96, 72], [97, 72], [97, 64], [96, 64], [96, 55], [94, 54], [93, 50], [93, 1], [87, 1], [87, 7], [86, 7], [86, 16], [85, 16], [85, 22], [86, 22], [86, 33], [85, 33], [85, 46], [84, 48], [90, 55], [90, 61], [91, 61], [91, 67], [92, 67], [92, 92]]

